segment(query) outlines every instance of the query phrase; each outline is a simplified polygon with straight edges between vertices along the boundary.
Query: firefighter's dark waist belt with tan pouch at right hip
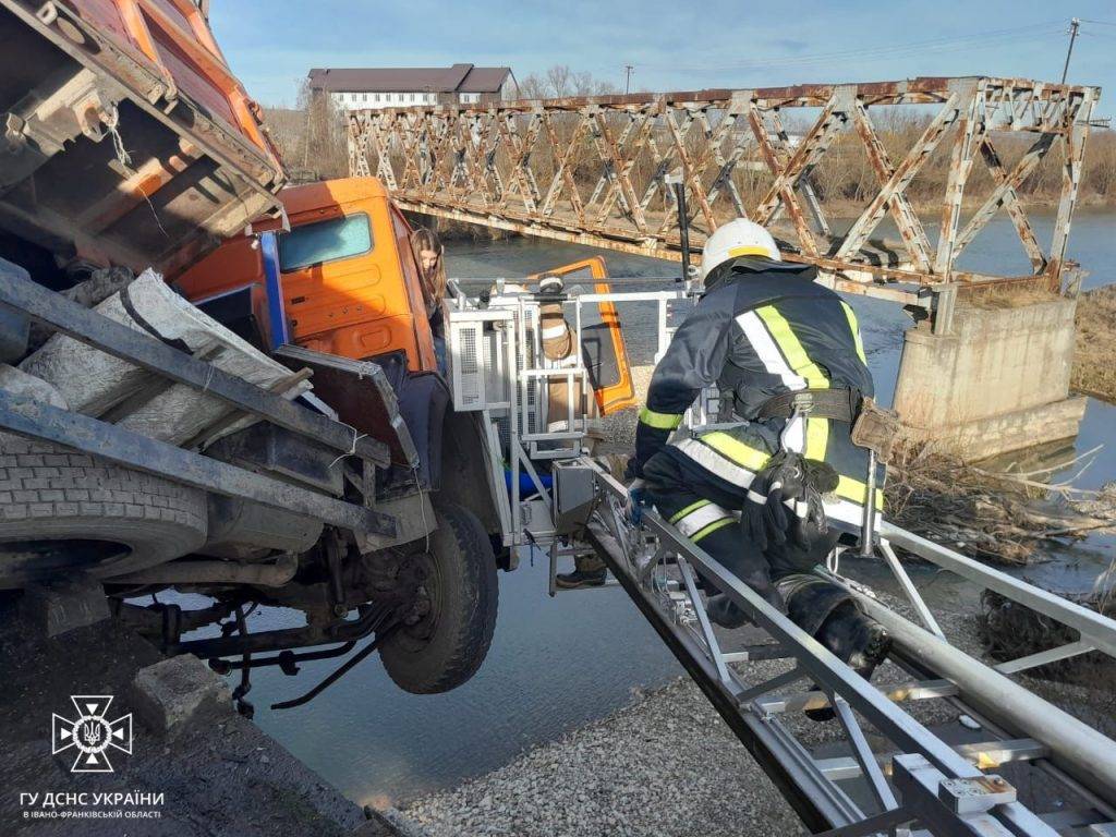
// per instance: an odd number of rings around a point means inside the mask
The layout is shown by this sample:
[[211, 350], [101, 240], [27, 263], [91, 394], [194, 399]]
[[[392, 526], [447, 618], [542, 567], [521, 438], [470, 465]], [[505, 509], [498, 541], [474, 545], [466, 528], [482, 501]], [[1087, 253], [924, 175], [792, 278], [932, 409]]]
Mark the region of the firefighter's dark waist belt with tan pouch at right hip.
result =
[[887, 464], [899, 439], [899, 420], [894, 411], [881, 407], [859, 389], [797, 389], [768, 398], [757, 411], [758, 419], [787, 419], [796, 415], [829, 419], [850, 426], [853, 444], [874, 451]]

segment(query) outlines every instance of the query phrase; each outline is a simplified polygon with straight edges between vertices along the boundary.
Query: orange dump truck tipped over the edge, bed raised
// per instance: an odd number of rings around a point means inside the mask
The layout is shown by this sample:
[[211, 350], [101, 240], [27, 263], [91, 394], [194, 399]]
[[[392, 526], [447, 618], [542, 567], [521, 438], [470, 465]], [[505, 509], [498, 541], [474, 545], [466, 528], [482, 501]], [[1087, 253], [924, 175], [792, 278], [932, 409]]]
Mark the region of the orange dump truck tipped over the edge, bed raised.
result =
[[[0, 590], [83, 579], [165, 653], [235, 661], [244, 711], [251, 668], [364, 638], [451, 689], [492, 637], [502, 480], [406, 222], [374, 181], [280, 193], [204, 8], [0, 0]], [[136, 604], [164, 589], [210, 604]], [[305, 624], [250, 629], [258, 604]]]

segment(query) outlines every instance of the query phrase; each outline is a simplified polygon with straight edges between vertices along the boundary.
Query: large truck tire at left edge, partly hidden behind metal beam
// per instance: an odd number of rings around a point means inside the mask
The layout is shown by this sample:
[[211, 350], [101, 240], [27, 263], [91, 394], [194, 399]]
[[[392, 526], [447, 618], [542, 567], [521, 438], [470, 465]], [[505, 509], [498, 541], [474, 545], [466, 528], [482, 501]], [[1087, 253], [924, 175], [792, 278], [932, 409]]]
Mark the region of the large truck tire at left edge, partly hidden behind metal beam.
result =
[[0, 433], [0, 589], [154, 567], [205, 542], [205, 492]]

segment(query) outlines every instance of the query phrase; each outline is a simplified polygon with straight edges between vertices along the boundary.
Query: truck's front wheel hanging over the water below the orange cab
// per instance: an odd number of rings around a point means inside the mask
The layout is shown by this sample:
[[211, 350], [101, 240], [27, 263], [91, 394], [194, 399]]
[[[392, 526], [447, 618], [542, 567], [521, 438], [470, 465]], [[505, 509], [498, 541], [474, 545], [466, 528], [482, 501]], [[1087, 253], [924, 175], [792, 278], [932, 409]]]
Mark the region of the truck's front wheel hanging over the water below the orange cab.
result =
[[460, 506], [440, 506], [435, 513], [430, 551], [414, 556], [426, 574], [429, 609], [395, 631], [379, 652], [395, 684], [412, 694], [448, 692], [472, 677], [496, 628], [496, 558], [484, 527]]

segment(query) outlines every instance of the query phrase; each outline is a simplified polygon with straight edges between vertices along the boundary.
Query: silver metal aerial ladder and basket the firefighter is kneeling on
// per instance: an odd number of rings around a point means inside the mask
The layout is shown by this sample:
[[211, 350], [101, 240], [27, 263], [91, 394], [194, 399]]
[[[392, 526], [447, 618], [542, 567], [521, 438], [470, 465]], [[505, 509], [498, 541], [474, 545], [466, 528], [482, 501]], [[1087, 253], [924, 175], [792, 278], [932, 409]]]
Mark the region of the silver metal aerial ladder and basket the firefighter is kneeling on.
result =
[[[477, 330], [487, 334], [491, 346], [487, 353], [473, 352], [470, 358], [501, 358], [501, 374], [508, 375], [511, 384], [500, 391], [500, 401], [475, 406], [483, 411], [489, 427], [494, 475], [500, 475], [501, 460], [511, 473], [507, 504], [501, 509], [504, 542], [549, 552], [551, 594], [556, 593], [555, 576], [564, 557], [589, 552], [599, 556], [807, 827], [847, 837], [884, 833], [1052, 836], [1066, 834], [1067, 824], [1100, 829], [1088, 834], [1107, 834], [1103, 829], [1116, 828], [1116, 742], [1014, 679], [1090, 651], [1116, 657], [1116, 623], [879, 520], [870, 554], [894, 576], [912, 618], [885, 606], [872, 589], [840, 574], [836, 561], [818, 570], [849, 589], [892, 635], [888, 660], [905, 680], [873, 685], [654, 510], [643, 513], [639, 526], [633, 525], [625, 509], [626, 488], [596, 461], [579, 455], [576, 440], [571, 449], [569, 434], [562, 435], [562, 454], [558, 458], [535, 446], [546, 434], [520, 432], [520, 375], [525, 368], [533, 369], [541, 357], [533, 344], [537, 329], [531, 327], [538, 321], [538, 297], [512, 294], [496, 308], [485, 309], [455, 291], [451, 335], [459, 326], [471, 323], [503, 324], [502, 328]], [[667, 291], [569, 294], [562, 301], [578, 344], [581, 306], [604, 300], [654, 304], [662, 352], [672, 334], [671, 306], [679, 306], [674, 312], [683, 314], [692, 299], [683, 286]], [[450, 356], [451, 375], [456, 378], [463, 372], [462, 353], [453, 337]], [[473, 367], [469, 372], [478, 374]], [[536, 393], [537, 406], [547, 401], [545, 393]], [[706, 393], [691, 408], [680, 432], [710, 426], [709, 420], [715, 414], [710, 404], [715, 404], [715, 393]], [[526, 441], [528, 437], [531, 442]], [[543, 469], [550, 471], [549, 482], [541, 477]], [[532, 487], [527, 498], [519, 488], [521, 472]], [[852, 525], [837, 520], [830, 525], [850, 536], [860, 535]], [[987, 665], [950, 642], [899, 562], [896, 548], [1031, 607], [1075, 629], [1080, 638]], [[728, 647], [727, 635], [714, 632], [706, 614], [709, 594], [700, 589], [699, 576], [706, 590], [712, 585], [742, 608], [764, 641], [742, 648]], [[735, 634], [728, 636], [730, 642], [738, 638]], [[757, 661], [771, 660], [785, 661], [785, 671], [759, 675], [752, 666]], [[988, 739], [951, 745], [904, 708], [927, 700], [947, 701], [959, 714], [977, 719]], [[796, 735], [795, 724], [787, 722], [791, 713], [826, 706], [840, 724], [850, 753], [847, 757], [816, 758]], [[869, 732], [874, 733], [873, 743]], [[1037, 812], [1024, 806], [1016, 788], [985, 771], [989, 766], [1011, 762], [1027, 762], [1042, 771], [1065, 790], [1066, 799], [1078, 800], [1077, 807], [1072, 811]], [[841, 785], [849, 779], [864, 783], [869, 805], [854, 799]]]

